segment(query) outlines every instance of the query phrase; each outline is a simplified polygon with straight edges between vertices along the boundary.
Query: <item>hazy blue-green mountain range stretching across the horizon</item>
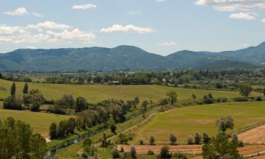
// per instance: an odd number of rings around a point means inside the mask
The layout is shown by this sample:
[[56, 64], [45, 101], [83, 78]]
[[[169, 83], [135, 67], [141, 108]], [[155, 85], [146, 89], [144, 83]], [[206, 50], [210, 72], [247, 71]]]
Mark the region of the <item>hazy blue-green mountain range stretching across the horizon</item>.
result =
[[225, 52], [183, 50], [166, 57], [139, 47], [16, 49], [0, 54], [2, 71], [77, 71], [115, 69], [256, 68], [265, 66], [265, 42]]

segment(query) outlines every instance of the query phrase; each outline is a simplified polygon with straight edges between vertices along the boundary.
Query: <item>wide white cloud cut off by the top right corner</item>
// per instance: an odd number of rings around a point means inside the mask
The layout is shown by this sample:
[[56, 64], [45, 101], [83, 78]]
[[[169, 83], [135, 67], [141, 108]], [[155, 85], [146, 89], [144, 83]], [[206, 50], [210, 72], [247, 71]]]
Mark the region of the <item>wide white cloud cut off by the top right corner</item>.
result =
[[217, 11], [251, 11], [265, 9], [264, 0], [197, 0], [199, 6], [212, 6]]

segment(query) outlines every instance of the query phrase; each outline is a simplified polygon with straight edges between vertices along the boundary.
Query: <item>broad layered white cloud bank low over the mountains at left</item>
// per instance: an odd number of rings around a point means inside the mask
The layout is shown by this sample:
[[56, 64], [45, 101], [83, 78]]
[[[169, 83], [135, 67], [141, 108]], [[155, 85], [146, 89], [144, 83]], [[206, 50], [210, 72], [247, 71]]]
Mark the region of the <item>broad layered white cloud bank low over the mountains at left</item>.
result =
[[[92, 42], [95, 39], [93, 33], [88, 33], [78, 28], [70, 29], [69, 27], [62, 27], [57, 31], [56, 25], [43, 25], [43, 24], [57, 24], [54, 22], [50, 23], [39, 23], [37, 27], [28, 26], [8, 26], [0, 24], [0, 42], [9, 43], [51, 43], [51, 42]], [[62, 25], [59, 26], [69, 26]], [[40, 27], [40, 28], [39, 28]], [[41, 29], [41, 30], [39, 30]], [[55, 30], [54, 30], [55, 29]]]

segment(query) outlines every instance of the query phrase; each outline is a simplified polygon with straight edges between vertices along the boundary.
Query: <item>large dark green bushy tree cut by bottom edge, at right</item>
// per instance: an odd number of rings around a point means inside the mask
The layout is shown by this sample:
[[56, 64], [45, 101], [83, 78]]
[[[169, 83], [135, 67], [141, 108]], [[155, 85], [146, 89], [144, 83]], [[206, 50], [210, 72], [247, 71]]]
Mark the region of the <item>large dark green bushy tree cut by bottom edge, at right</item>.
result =
[[237, 151], [237, 143], [230, 141], [225, 132], [220, 131], [209, 143], [202, 146], [202, 155], [204, 159], [242, 159], [242, 156]]

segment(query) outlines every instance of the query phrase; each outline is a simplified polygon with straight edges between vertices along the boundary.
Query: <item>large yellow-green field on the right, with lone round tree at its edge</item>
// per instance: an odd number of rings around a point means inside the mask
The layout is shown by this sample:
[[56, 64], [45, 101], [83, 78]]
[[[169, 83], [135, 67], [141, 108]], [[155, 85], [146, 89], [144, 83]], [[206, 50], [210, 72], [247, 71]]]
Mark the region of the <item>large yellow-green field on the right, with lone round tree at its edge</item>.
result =
[[216, 119], [231, 114], [235, 119], [235, 130], [265, 120], [265, 102], [232, 102], [214, 105], [182, 107], [156, 114], [152, 121], [136, 132], [139, 139], [148, 143], [155, 136], [157, 144], [169, 143], [170, 133], [177, 135], [179, 143], [187, 143], [187, 137], [197, 131], [216, 134]]

